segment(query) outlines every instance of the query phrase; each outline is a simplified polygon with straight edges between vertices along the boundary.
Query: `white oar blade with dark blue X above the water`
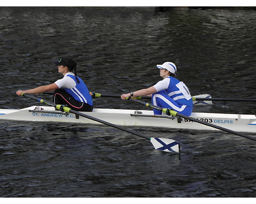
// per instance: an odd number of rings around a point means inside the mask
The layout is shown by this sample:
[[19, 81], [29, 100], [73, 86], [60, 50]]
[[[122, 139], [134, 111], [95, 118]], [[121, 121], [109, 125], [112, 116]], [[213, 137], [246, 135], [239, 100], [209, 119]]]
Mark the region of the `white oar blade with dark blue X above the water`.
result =
[[176, 152], [179, 153], [179, 143], [175, 140], [168, 138], [150, 138], [150, 142], [155, 149], [162, 150], [164, 152]]

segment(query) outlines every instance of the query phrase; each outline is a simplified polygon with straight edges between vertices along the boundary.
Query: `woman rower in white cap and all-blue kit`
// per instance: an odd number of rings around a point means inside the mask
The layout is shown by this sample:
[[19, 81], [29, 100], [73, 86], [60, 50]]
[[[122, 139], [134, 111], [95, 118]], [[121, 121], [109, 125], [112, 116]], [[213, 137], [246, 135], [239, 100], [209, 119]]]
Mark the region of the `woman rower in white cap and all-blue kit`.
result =
[[[162, 108], [172, 108], [173, 110], [183, 114], [191, 115], [193, 110], [193, 101], [188, 87], [177, 80], [177, 67], [173, 62], [164, 62], [157, 64], [160, 70], [160, 76], [163, 80], [147, 89], [122, 94], [121, 98], [151, 96], [152, 104]], [[154, 109], [155, 115], [161, 115], [160, 110]]]

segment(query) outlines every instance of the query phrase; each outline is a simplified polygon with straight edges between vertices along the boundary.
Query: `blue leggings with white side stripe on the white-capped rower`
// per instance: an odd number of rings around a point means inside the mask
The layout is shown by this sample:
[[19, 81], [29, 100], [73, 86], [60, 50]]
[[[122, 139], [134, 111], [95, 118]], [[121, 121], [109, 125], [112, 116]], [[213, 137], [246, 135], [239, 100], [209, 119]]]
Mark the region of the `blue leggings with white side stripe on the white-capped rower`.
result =
[[[191, 99], [191, 106], [180, 105], [174, 101], [170, 96], [164, 91], [159, 91], [156, 94], [152, 94], [152, 105], [159, 106], [162, 108], [172, 108], [182, 115], [191, 115], [193, 110], [193, 101]], [[153, 109], [154, 115], [162, 115], [161, 110]]]

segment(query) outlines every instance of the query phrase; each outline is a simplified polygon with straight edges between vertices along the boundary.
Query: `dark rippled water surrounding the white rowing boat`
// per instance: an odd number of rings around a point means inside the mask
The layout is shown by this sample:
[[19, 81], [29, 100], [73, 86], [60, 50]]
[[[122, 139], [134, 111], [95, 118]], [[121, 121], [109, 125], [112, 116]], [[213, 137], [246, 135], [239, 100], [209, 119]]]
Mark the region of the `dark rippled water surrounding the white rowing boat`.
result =
[[[53, 62], [77, 61], [90, 91], [154, 85], [156, 64], [177, 64], [191, 94], [255, 98], [256, 11], [154, 8], [0, 8], [1, 108], [38, 105], [18, 89], [61, 78]], [[42, 96], [51, 100], [51, 96]], [[99, 98], [97, 108], [141, 108]], [[255, 114], [254, 103], [195, 112]], [[255, 197], [256, 143], [223, 132], [136, 129], [173, 138], [181, 153], [107, 126], [0, 121], [1, 197]], [[243, 130], [241, 130], [243, 131]], [[252, 135], [253, 136], [253, 135]]]

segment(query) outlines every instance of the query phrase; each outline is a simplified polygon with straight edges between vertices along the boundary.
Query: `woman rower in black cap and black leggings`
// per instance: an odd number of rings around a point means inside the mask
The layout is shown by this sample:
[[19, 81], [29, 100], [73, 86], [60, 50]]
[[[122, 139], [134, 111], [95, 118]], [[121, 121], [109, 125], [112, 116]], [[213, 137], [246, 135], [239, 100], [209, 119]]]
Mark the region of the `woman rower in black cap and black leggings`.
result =
[[71, 58], [61, 57], [55, 64], [58, 66], [59, 73], [63, 78], [53, 84], [36, 87], [26, 91], [17, 91], [16, 94], [39, 94], [46, 91], [54, 91], [54, 103], [67, 105], [72, 110], [92, 112], [93, 100], [86, 84], [77, 77], [77, 63]]

